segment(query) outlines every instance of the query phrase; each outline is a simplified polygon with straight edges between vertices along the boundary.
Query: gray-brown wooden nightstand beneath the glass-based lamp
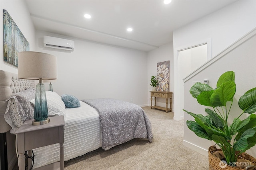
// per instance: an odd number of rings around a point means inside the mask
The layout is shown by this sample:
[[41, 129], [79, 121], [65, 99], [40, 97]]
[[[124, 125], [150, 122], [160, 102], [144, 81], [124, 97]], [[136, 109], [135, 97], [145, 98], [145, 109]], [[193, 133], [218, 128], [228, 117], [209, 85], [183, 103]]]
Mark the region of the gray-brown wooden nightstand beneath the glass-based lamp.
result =
[[[10, 131], [10, 133], [17, 135], [19, 169], [25, 170], [25, 151], [28, 151], [28, 155], [31, 156], [32, 149], [60, 143], [60, 162], [54, 162], [36, 168], [36, 170], [64, 170], [64, 117], [50, 117], [50, 122], [44, 125], [32, 125], [32, 121], [25, 121], [17, 131], [13, 129]], [[30, 168], [31, 160], [28, 162], [28, 169]]]

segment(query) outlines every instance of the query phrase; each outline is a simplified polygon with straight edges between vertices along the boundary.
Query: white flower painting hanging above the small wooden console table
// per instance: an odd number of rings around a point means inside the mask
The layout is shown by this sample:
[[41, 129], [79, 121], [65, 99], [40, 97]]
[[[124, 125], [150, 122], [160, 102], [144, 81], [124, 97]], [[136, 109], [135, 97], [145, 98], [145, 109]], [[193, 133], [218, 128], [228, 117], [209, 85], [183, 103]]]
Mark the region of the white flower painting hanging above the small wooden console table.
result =
[[158, 85], [156, 86], [156, 91], [169, 91], [169, 76], [170, 76], [170, 61], [164, 61], [157, 63], [157, 73], [156, 78], [158, 80]]

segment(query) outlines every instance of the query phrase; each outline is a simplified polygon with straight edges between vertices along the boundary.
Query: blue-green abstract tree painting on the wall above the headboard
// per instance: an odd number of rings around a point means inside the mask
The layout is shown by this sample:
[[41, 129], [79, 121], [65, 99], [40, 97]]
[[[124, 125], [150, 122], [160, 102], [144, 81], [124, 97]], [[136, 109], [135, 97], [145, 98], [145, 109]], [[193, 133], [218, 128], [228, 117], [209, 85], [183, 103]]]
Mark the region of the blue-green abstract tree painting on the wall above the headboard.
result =
[[4, 10], [4, 61], [18, 67], [18, 52], [21, 51], [29, 51], [29, 43]]

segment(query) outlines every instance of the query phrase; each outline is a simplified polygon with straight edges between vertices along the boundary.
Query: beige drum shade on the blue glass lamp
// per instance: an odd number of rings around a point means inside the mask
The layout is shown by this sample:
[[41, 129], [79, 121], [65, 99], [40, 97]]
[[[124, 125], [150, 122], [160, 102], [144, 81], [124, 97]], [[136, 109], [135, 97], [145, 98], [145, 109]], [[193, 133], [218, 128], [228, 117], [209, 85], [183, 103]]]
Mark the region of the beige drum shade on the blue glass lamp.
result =
[[23, 51], [18, 53], [18, 78], [38, 80], [57, 79], [57, 57], [54, 55]]

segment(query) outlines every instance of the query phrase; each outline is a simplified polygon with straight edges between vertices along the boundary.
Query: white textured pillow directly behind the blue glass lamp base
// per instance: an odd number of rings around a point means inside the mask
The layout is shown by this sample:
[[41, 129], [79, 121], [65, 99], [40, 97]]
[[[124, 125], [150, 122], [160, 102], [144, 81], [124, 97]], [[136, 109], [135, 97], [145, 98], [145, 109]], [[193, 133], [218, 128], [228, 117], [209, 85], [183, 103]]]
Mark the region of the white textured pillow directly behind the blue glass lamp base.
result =
[[[46, 91], [46, 100], [48, 107], [48, 116], [60, 116], [66, 117], [66, 106], [61, 100], [61, 97], [56, 92]], [[30, 102], [35, 104], [35, 99], [30, 100]]]

